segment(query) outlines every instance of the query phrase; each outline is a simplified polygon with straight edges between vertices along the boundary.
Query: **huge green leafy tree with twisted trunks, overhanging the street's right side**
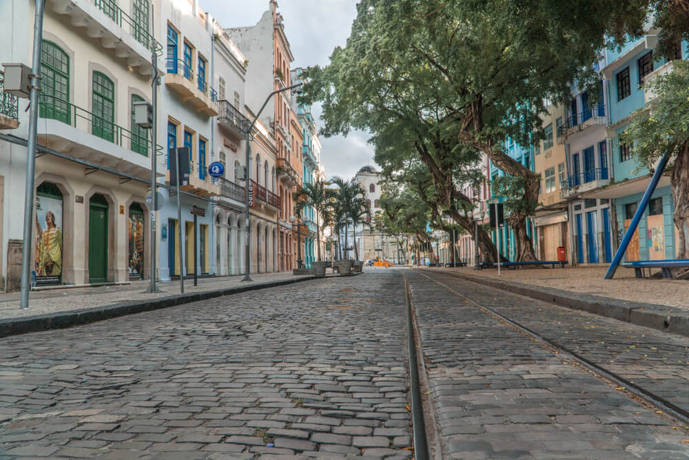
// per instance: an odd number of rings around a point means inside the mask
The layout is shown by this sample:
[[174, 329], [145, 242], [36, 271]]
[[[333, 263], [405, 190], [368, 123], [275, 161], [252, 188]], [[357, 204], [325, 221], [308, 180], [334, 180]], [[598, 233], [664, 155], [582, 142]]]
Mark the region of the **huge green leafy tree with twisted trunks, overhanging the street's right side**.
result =
[[[416, 134], [412, 146], [444, 201], [460, 198], [446, 180], [450, 133], [521, 177], [525, 202], [536, 203], [539, 177], [504, 152], [505, 139], [541, 139], [543, 99], [567, 100], [575, 77], [595, 80], [590, 63], [606, 43], [602, 32], [639, 33], [648, 6], [583, 3], [362, 0], [347, 46], [326, 68], [309, 68], [305, 99], [323, 101], [326, 135], [360, 128], [375, 136], [402, 123]], [[535, 259], [531, 212], [520, 207], [509, 218], [517, 260]]]

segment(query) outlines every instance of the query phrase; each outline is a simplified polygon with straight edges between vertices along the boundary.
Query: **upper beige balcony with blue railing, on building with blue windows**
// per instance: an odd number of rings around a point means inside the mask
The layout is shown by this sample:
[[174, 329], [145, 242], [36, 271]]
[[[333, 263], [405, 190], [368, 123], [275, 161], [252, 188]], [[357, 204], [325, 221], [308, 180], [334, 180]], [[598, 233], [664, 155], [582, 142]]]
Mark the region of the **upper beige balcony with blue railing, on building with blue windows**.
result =
[[165, 85], [174, 90], [183, 102], [188, 102], [196, 112], [215, 117], [218, 114], [218, 97], [205, 80], [198, 79], [194, 69], [187, 66], [182, 59], [168, 58]]

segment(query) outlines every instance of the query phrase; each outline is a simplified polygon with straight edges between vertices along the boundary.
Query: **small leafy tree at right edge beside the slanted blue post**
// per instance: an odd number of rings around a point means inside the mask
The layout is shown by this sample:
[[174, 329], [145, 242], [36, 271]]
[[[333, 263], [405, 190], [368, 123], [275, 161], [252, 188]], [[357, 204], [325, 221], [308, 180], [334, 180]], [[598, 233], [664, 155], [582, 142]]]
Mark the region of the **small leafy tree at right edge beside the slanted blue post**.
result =
[[670, 158], [673, 221], [679, 234], [677, 259], [689, 259], [689, 63], [675, 61], [673, 72], [646, 84], [657, 97], [635, 112], [622, 135], [639, 161], [639, 169], [654, 170], [661, 157]]

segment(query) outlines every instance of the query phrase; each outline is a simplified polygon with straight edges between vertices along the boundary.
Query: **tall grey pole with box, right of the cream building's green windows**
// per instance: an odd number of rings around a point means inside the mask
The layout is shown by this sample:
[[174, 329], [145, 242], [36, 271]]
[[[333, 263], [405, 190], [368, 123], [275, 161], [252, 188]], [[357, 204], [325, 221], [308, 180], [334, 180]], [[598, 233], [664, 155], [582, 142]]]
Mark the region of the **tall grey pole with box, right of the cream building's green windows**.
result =
[[[152, 19], [155, 17], [153, 14], [153, 3], [151, 3], [151, 16]], [[155, 37], [155, 19], [152, 20], [151, 34]], [[157, 265], [158, 257], [156, 257], [156, 244], [158, 244], [158, 226], [156, 224], [156, 212], [158, 212], [158, 197], [156, 194], [158, 183], [158, 150], [156, 150], [156, 144], [158, 143], [158, 85], [161, 81], [158, 77], [158, 58], [156, 57], [156, 46], [155, 42], [152, 43], [153, 49], [151, 50], [151, 63], [153, 64], [153, 80], [151, 82], [152, 95], [151, 101], [153, 105], [153, 123], [151, 126], [151, 263], [150, 265], [150, 277], [151, 283], [145, 292], [161, 292], [156, 286], [157, 277]]]

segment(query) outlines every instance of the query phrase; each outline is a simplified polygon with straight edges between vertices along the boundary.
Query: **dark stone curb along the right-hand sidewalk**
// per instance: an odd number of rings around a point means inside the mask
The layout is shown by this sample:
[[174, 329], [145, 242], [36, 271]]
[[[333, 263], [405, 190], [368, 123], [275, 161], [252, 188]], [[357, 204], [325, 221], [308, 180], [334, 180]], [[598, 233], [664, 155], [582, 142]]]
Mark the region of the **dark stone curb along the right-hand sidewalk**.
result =
[[484, 286], [490, 286], [491, 288], [531, 297], [531, 299], [555, 303], [557, 306], [573, 310], [583, 310], [601, 317], [613, 318], [637, 326], [645, 326], [646, 328], [689, 337], [689, 312], [679, 308], [611, 299], [610, 297], [533, 286], [531, 284], [517, 283], [516, 281], [497, 281], [495, 279], [472, 277], [463, 273], [441, 273]]

